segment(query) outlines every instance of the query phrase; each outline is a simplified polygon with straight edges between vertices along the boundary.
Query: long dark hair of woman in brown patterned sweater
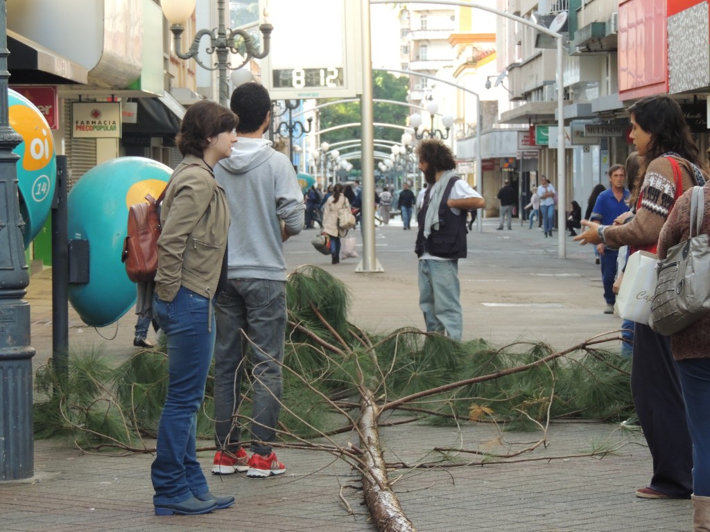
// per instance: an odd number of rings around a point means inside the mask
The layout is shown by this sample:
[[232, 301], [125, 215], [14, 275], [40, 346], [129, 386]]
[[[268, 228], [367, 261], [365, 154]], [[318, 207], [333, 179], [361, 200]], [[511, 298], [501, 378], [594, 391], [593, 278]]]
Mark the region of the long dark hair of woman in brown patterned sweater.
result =
[[657, 94], [640, 99], [627, 111], [638, 126], [651, 135], [646, 155], [640, 161], [643, 173], [652, 160], [666, 152], [675, 152], [703, 167], [700, 151], [677, 101], [667, 94]]

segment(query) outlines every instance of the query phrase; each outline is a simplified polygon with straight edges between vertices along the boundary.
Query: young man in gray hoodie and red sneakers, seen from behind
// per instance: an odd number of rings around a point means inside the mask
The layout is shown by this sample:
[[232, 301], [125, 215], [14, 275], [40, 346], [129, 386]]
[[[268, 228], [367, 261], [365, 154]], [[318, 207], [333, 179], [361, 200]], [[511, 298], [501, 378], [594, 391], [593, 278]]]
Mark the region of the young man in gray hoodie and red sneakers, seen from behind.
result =
[[[240, 85], [231, 95], [239, 116], [231, 156], [214, 168], [229, 202], [227, 285], [217, 297], [214, 343], [214, 455], [212, 472], [247, 477], [280, 475], [270, 443], [280, 412], [281, 363], [286, 328], [283, 241], [300, 233], [305, 206], [288, 157], [262, 138], [271, 123], [271, 98], [261, 84]], [[253, 372], [251, 458], [239, 445], [241, 377], [251, 352]]]

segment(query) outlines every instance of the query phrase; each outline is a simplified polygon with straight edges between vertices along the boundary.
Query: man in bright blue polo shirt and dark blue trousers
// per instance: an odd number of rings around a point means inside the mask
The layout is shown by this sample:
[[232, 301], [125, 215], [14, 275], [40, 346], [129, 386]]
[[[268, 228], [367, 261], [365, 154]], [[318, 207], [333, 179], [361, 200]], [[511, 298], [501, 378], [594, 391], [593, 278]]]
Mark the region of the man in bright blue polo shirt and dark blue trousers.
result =
[[[592, 209], [591, 220], [601, 223], [604, 226], [611, 226], [617, 216], [627, 212], [628, 196], [630, 193], [624, 187], [626, 181], [626, 169], [622, 165], [613, 165], [607, 172], [611, 187], [599, 194]], [[606, 248], [599, 244], [597, 251], [601, 255], [601, 282], [604, 285], [604, 300], [606, 308], [604, 314], [614, 313], [614, 303], [616, 295], [613, 292], [614, 279], [616, 278], [616, 259], [618, 250]]]

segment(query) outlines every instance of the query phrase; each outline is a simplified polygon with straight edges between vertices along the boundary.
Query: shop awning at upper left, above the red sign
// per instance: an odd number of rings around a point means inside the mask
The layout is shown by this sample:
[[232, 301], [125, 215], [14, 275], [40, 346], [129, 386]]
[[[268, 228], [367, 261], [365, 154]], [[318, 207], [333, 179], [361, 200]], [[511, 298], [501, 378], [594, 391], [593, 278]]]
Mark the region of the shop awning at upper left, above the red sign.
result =
[[8, 70], [13, 84], [87, 84], [89, 71], [13, 31], [7, 32]]

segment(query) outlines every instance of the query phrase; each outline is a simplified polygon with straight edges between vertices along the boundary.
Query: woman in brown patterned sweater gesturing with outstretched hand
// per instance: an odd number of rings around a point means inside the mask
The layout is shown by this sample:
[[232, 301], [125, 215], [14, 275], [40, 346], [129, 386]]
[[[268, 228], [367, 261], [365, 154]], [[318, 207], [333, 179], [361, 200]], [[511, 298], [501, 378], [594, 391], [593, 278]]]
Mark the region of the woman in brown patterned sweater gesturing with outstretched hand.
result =
[[[640, 157], [643, 184], [631, 197], [635, 216], [625, 213], [613, 225], [584, 222], [589, 229], [574, 237], [581, 244], [603, 243], [611, 248], [629, 245], [656, 252], [661, 228], [676, 199], [707, 175], [680, 106], [670, 96], [648, 96], [628, 109], [630, 137]], [[636, 490], [645, 499], [689, 499], [692, 493], [692, 444], [685, 404], [670, 338], [636, 323], [631, 369], [631, 392], [653, 460], [647, 487]]]

